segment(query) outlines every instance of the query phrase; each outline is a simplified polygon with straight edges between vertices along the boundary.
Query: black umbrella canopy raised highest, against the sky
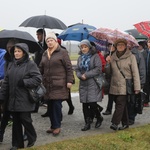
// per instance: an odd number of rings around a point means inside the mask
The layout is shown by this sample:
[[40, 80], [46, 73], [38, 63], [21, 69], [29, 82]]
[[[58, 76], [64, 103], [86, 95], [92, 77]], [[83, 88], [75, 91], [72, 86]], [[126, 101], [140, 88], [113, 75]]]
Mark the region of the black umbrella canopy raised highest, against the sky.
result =
[[67, 28], [67, 26], [61, 20], [47, 15], [30, 17], [22, 22], [19, 26], [61, 30]]

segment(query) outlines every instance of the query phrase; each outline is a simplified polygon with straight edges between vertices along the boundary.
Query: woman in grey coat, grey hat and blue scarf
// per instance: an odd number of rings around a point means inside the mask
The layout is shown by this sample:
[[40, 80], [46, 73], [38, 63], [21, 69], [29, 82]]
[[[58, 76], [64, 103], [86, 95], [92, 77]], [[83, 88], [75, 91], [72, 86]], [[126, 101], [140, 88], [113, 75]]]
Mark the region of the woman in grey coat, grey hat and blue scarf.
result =
[[102, 63], [95, 47], [88, 40], [82, 40], [79, 47], [81, 50], [76, 74], [80, 79], [79, 94], [85, 120], [85, 126], [81, 130], [87, 131], [90, 129], [93, 112], [97, 118], [95, 128], [100, 127], [103, 121], [97, 105], [102, 100], [102, 91], [94, 80], [95, 76], [102, 73]]

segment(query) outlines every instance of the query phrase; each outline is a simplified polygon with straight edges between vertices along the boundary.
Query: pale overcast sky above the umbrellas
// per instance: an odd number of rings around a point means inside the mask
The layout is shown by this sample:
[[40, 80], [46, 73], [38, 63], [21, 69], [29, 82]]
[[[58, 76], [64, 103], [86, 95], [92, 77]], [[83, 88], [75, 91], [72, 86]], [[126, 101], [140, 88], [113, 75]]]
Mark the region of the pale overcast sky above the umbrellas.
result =
[[[150, 20], [150, 0], [1, 0], [0, 28], [18, 29], [27, 18], [49, 15], [67, 26], [82, 22], [99, 27], [127, 30]], [[33, 32], [33, 28], [19, 27]], [[32, 34], [32, 33], [31, 33]]]

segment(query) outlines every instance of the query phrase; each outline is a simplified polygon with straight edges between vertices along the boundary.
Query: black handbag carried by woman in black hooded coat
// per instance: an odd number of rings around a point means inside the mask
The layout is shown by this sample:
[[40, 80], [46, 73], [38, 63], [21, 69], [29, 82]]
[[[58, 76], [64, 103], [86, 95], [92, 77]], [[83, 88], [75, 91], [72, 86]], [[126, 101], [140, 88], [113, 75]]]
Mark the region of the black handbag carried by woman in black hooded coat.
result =
[[46, 94], [46, 88], [43, 83], [38, 85], [36, 88], [28, 88], [30, 101], [32, 103], [37, 103]]

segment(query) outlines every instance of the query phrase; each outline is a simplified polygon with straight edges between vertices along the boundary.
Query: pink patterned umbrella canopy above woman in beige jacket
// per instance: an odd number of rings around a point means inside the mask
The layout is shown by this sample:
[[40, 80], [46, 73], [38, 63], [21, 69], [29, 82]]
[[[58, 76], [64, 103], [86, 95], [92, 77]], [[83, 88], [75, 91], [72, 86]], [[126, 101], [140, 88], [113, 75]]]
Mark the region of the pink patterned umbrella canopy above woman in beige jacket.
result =
[[126, 39], [129, 47], [138, 46], [137, 40], [126, 32], [113, 30], [108, 28], [99, 28], [90, 32], [92, 36], [99, 40], [105, 40], [109, 43], [114, 43], [117, 39]]

